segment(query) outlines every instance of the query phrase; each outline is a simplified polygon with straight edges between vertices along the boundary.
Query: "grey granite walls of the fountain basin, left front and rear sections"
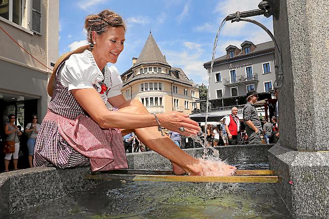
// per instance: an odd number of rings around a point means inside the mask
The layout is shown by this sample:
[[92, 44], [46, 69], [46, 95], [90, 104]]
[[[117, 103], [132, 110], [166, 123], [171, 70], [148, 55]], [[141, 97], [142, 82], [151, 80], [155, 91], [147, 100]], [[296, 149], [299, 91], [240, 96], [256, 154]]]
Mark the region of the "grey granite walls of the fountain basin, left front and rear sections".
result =
[[[238, 145], [216, 147], [220, 158], [236, 167], [268, 169], [268, 149], [266, 145]], [[184, 149], [194, 157], [201, 157], [203, 148]], [[171, 163], [155, 152], [127, 154], [129, 169], [170, 170]], [[251, 168], [253, 169], [253, 168]], [[83, 175], [90, 168], [80, 167], [60, 170], [50, 167], [30, 168], [0, 174], [0, 218], [20, 211], [30, 210], [38, 205], [51, 203], [61, 197], [97, 188], [103, 182], [85, 180]], [[116, 182], [117, 183], [117, 182]], [[120, 182], [118, 182], [120, 183]]]

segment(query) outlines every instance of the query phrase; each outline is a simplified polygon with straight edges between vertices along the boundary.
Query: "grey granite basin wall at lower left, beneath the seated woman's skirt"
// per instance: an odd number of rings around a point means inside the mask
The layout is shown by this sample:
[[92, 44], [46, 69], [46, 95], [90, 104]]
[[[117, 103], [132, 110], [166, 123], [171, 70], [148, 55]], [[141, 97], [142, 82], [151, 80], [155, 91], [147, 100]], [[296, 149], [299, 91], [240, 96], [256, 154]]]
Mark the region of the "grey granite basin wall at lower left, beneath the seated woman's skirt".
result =
[[90, 173], [89, 167], [38, 167], [0, 174], [0, 218], [97, 185], [84, 180], [85, 173]]

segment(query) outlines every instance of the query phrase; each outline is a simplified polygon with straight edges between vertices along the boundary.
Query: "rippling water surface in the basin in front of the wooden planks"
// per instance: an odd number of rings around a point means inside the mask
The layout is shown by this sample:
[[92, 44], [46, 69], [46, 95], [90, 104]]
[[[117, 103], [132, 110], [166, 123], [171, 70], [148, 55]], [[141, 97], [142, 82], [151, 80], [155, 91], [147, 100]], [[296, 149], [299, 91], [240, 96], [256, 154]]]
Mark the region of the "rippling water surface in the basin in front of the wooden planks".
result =
[[13, 218], [294, 218], [270, 184], [102, 181]]

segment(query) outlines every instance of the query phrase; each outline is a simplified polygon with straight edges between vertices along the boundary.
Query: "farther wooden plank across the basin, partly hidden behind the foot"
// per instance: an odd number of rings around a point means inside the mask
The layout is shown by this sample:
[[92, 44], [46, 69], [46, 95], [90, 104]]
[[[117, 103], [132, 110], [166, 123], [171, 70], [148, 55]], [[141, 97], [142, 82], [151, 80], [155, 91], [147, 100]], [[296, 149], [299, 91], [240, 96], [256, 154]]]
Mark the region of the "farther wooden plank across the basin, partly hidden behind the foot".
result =
[[[93, 174], [125, 174], [125, 175], [175, 175], [171, 170], [111, 170], [94, 172]], [[237, 170], [235, 176], [267, 176], [274, 175], [271, 170]]]

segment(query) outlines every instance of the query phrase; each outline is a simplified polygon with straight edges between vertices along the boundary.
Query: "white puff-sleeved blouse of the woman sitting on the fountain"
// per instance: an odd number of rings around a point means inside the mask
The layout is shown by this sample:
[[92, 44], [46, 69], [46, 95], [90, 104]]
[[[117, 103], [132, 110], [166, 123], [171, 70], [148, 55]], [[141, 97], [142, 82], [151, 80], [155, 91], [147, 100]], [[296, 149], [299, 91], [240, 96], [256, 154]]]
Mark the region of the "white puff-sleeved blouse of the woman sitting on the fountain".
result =
[[82, 53], [75, 53], [65, 62], [60, 74], [60, 82], [68, 91], [74, 89], [94, 88], [101, 92], [101, 83], [104, 81], [107, 86], [107, 92], [100, 94], [104, 103], [109, 97], [121, 94], [122, 80], [118, 70], [114, 66], [107, 65], [104, 68], [104, 75], [98, 68], [91, 51], [85, 50]]

